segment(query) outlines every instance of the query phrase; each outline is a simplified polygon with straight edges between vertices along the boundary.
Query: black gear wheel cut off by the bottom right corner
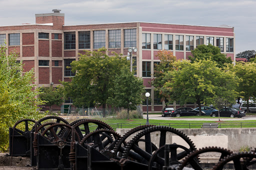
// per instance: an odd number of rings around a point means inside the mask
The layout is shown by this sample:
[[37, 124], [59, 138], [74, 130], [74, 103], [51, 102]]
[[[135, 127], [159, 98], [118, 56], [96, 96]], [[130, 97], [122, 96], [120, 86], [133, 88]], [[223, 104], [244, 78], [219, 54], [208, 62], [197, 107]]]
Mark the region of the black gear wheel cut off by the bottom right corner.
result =
[[230, 161], [233, 163], [232, 170], [255, 170], [251, 165], [256, 164], [256, 154], [254, 152], [241, 152], [235, 153], [221, 159], [215, 166], [213, 170], [223, 170], [223, 167]]

